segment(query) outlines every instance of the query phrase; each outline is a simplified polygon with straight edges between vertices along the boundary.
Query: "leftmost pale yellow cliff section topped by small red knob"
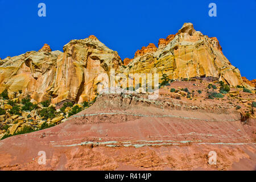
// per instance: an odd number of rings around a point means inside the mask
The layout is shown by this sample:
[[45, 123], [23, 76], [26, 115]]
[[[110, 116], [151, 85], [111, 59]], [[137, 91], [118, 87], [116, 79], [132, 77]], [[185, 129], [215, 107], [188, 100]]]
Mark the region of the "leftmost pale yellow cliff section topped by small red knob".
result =
[[20, 97], [30, 94], [36, 101], [49, 99], [54, 90], [56, 60], [61, 55], [60, 51], [30, 51], [3, 59], [0, 65], [0, 92], [8, 89], [9, 97], [13, 97], [13, 92], [21, 90]]

